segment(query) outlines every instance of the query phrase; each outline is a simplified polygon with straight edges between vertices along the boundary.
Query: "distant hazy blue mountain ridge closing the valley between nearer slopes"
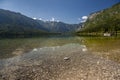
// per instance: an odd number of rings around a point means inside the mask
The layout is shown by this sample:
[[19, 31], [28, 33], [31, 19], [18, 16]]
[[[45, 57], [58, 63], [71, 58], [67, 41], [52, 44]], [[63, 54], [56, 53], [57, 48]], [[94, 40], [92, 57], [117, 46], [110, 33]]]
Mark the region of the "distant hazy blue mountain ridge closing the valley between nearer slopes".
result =
[[81, 28], [81, 24], [67, 24], [64, 22], [57, 21], [36, 21], [52, 33], [71, 33], [76, 32], [79, 28]]

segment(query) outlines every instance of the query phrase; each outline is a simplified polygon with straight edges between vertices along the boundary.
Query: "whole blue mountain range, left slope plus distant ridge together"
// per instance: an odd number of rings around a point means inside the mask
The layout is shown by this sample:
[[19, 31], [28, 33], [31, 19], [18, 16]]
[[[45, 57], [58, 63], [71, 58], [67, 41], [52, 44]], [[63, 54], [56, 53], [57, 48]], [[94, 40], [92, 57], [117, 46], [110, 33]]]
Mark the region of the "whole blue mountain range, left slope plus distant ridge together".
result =
[[38, 19], [34, 20], [21, 13], [0, 9], [0, 36], [73, 33], [80, 28], [81, 24], [44, 22]]

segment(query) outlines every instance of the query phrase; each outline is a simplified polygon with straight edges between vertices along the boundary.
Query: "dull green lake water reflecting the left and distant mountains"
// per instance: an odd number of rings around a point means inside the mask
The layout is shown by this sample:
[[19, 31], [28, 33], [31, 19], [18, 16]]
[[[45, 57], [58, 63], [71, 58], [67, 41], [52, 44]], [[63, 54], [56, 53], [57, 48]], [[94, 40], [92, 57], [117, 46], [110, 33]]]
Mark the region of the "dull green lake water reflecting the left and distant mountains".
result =
[[82, 44], [81, 40], [82, 38], [73, 36], [0, 39], [0, 58], [10, 58], [32, 51], [34, 48], [62, 46], [69, 43]]

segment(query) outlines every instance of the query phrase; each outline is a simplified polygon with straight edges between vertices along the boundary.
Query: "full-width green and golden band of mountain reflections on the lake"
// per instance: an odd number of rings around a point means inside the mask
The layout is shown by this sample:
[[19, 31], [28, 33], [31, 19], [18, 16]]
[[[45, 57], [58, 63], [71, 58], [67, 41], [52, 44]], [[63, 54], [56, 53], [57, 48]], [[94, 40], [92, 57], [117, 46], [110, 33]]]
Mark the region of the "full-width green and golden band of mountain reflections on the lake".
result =
[[79, 36], [0, 39], [0, 59], [21, 55], [36, 48], [72, 43], [85, 45], [90, 53], [120, 62], [120, 38]]

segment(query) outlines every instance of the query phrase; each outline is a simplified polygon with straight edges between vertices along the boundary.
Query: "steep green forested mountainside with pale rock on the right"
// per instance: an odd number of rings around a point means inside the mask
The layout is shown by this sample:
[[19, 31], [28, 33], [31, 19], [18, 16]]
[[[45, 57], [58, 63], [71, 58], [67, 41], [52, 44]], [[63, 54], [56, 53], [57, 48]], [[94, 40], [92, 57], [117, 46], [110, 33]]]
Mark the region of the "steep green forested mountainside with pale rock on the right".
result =
[[91, 13], [79, 33], [117, 33], [120, 32], [120, 3], [110, 8]]

